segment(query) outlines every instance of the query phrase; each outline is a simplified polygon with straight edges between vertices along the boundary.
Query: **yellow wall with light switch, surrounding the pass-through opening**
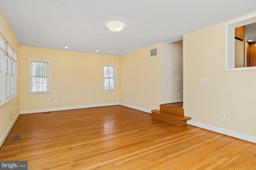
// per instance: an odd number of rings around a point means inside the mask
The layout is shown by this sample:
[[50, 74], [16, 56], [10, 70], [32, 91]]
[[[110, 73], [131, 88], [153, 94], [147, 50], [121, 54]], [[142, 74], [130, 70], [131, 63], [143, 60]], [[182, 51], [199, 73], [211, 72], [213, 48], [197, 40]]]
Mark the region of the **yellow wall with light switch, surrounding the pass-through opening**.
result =
[[[184, 35], [185, 115], [256, 136], [256, 70], [224, 71], [224, 37], [224, 23]], [[200, 78], [207, 83], [200, 84]]]

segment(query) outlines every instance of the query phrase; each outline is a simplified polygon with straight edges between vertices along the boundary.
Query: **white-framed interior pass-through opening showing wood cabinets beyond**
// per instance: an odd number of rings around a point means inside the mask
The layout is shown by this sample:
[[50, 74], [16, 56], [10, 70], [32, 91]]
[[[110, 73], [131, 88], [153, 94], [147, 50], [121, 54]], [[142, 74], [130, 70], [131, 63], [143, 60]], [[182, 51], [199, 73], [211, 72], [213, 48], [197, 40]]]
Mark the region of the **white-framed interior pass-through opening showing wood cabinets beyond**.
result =
[[256, 14], [225, 23], [225, 71], [256, 69], [255, 26]]

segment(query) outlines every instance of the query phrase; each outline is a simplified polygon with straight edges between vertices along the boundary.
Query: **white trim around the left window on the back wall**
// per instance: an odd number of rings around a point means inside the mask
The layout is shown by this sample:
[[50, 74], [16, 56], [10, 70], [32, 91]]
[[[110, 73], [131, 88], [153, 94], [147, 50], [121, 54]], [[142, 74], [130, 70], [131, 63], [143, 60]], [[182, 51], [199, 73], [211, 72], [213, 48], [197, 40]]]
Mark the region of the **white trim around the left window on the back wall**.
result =
[[[48, 63], [48, 92], [47, 93], [30, 93], [29, 89], [30, 89], [30, 69], [31, 69], [31, 63], [32, 61], [36, 61], [36, 62], [44, 62], [44, 63]], [[28, 68], [28, 94], [51, 94], [51, 61], [48, 60], [29, 60], [29, 68]]]

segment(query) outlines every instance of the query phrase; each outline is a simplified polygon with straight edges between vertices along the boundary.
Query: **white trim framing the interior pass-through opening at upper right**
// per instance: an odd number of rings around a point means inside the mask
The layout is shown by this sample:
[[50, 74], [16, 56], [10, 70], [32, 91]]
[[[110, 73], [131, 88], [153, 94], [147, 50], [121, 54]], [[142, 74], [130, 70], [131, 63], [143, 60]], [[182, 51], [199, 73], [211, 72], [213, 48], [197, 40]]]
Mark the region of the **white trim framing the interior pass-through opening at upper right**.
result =
[[248, 15], [225, 23], [225, 71], [256, 70], [256, 66], [230, 68], [230, 63], [234, 63], [230, 60], [235, 58], [234, 45], [232, 45], [234, 43], [233, 41], [235, 41], [233, 38], [235, 37], [235, 28], [254, 22], [256, 22], [256, 14]]

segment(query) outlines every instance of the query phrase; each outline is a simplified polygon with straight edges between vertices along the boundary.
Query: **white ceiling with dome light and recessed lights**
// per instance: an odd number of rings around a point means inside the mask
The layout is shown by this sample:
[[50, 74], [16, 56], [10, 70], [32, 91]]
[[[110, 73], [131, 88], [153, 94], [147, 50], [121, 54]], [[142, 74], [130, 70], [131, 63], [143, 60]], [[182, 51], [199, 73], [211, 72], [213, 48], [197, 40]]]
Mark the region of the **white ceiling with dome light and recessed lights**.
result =
[[[255, 9], [256, 0], [0, 0], [20, 45], [118, 56]], [[109, 21], [125, 27], [112, 32]]]

